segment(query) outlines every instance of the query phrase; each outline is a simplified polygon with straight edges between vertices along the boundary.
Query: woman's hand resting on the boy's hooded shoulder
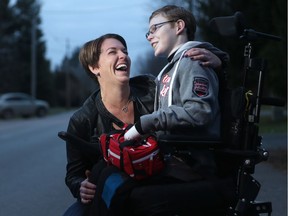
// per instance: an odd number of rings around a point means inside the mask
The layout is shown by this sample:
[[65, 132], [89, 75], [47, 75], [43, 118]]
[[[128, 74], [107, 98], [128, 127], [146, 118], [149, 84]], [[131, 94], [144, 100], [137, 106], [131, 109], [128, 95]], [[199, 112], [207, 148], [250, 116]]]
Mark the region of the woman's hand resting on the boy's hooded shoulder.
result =
[[221, 60], [214, 53], [204, 48], [191, 48], [186, 51], [185, 57], [199, 60], [201, 65], [214, 69], [217, 69], [222, 65]]

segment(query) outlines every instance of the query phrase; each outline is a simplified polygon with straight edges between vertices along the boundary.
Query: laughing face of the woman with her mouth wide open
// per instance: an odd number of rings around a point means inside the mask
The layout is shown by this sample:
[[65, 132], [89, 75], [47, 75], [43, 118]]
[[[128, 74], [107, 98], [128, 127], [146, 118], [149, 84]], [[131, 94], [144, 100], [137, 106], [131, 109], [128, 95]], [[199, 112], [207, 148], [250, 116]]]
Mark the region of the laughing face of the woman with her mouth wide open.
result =
[[130, 76], [131, 60], [124, 45], [117, 39], [105, 39], [96, 68], [100, 84], [127, 82]]

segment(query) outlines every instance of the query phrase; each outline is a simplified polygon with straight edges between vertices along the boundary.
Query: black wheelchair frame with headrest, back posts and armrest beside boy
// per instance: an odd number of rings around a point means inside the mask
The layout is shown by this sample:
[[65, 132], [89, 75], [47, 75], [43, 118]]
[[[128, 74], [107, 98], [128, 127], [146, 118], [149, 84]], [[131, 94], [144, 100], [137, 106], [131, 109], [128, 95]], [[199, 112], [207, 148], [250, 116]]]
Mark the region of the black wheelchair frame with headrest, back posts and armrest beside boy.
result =
[[[230, 26], [227, 26], [230, 25]], [[183, 138], [180, 136], [166, 135], [160, 138], [160, 143], [168, 145], [174, 152], [183, 152], [183, 148], [201, 148], [213, 149], [221, 154], [232, 155], [239, 159], [237, 185], [236, 185], [236, 203], [230, 206], [226, 211], [226, 216], [259, 216], [260, 214], [272, 213], [271, 202], [256, 201], [261, 184], [252, 177], [255, 171], [255, 166], [266, 161], [269, 157], [269, 152], [262, 147], [262, 137], [259, 136], [259, 119], [261, 105], [284, 106], [285, 102], [276, 98], [263, 98], [263, 81], [266, 72], [266, 60], [262, 58], [252, 58], [252, 42], [258, 38], [269, 40], [281, 40], [280, 37], [257, 32], [252, 29], [243, 28], [243, 15], [241, 12], [236, 12], [230, 17], [216, 17], [210, 21], [210, 27], [222, 36], [240, 35], [240, 39], [246, 40], [247, 45], [244, 49], [244, 71], [243, 71], [243, 98], [245, 107], [242, 110], [243, 115], [237, 119], [237, 122], [229, 125], [229, 131], [225, 133], [236, 135], [240, 138], [240, 142], [234, 146], [229, 146], [229, 143], [221, 140], [191, 140], [191, 138]], [[228, 32], [225, 32], [228, 29]], [[232, 29], [232, 31], [231, 31]], [[230, 32], [229, 32], [230, 31]], [[251, 73], [258, 75], [256, 89], [247, 89], [248, 80]], [[226, 95], [225, 95], [226, 96]], [[230, 95], [231, 96], [231, 95]], [[240, 98], [241, 100], [243, 98]], [[229, 98], [229, 102], [230, 102]], [[230, 105], [230, 104], [229, 104]], [[224, 142], [224, 143], [223, 143]], [[226, 141], [227, 142], [227, 141]], [[177, 143], [177, 146], [175, 145]], [[185, 150], [184, 150], [185, 151]]]

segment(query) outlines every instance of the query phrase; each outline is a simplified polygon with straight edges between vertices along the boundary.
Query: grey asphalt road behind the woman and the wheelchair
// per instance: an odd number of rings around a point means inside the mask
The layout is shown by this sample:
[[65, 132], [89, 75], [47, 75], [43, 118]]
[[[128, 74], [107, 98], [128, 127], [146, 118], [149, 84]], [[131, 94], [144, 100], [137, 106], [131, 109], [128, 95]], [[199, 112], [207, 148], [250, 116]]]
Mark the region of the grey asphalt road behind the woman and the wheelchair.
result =
[[[65, 183], [66, 130], [70, 113], [45, 118], [0, 119], [0, 216], [60, 216], [74, 202]], [[287, 151], [287, 135], [264, 135], [264, 146]], [[272, 201], [273, 216], [287, 215], [287, 173], [256, 166], [257, 200]]]

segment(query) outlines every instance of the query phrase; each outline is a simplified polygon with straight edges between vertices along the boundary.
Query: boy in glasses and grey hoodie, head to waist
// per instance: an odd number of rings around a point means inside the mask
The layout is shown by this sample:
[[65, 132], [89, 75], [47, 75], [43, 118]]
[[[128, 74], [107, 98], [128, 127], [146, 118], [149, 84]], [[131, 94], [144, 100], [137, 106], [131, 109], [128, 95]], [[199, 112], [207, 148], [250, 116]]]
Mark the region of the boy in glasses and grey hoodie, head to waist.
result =
[[[157, 77], [155, 111], [141, 116], [127, 131], [125, 139], [137, 139], [150, 132], [190, 135], [204, 140], [220, 138], [217, 74], [212, 68], [184, 56], [192, 47], [211, 48], [212, 45], [193, 41], [195, 18], [182, 7], [162, 7], [152, 13], [149, 22], [147, 40], [155, 56], [167, 57], [169, 63]], [[197, 173], [213, 173], [215, 167], [211, 158], [210, 152], [205, 152], [200, 160], [193, 159], [193, 164], [189, 165]]]

